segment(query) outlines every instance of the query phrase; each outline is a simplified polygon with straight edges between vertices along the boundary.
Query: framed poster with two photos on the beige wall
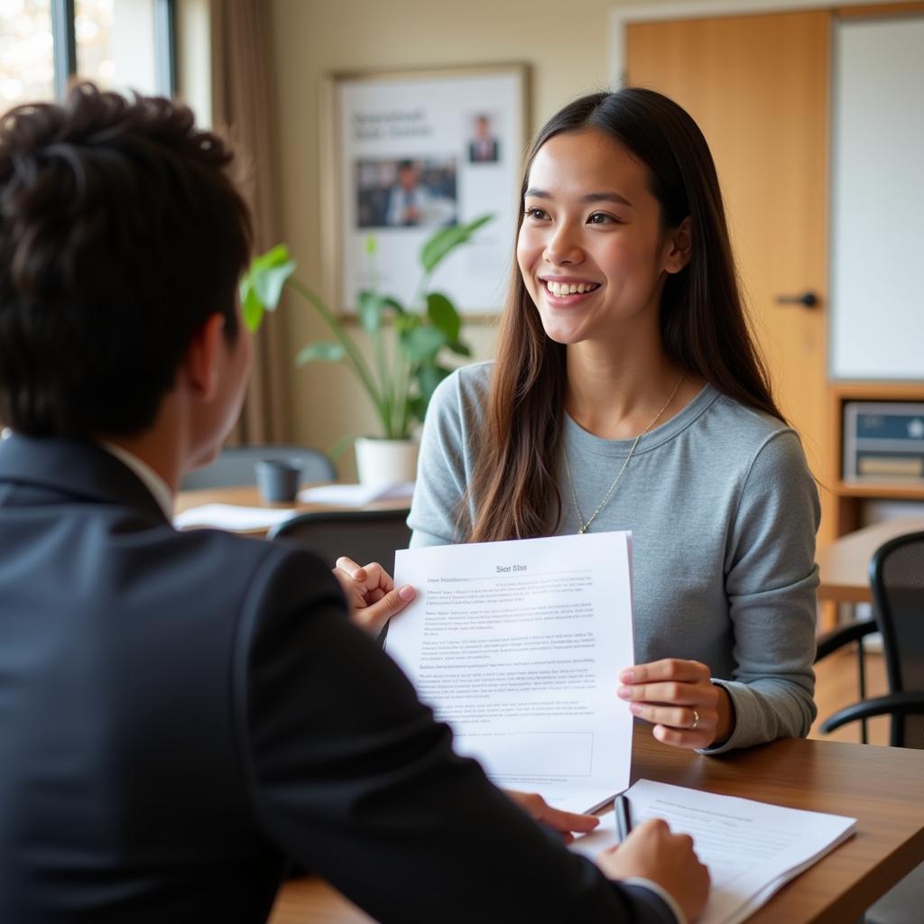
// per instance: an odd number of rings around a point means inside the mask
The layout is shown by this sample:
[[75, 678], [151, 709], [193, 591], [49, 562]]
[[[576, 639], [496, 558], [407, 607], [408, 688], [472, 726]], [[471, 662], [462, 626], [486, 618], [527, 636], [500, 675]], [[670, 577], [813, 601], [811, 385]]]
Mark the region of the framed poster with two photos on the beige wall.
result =
[[[322, 106], [325, 291], [344, 313], [374, 287], [412, 303], [423, 243], [492, 220], [434, 272], [460, 313], [494, 314], [513, 260], [528, 140], [526, 65], [334, 75]], [[374, 248], [370, 246], [374, 241]], [[374, 251], [374, 252], [371, 252]]]

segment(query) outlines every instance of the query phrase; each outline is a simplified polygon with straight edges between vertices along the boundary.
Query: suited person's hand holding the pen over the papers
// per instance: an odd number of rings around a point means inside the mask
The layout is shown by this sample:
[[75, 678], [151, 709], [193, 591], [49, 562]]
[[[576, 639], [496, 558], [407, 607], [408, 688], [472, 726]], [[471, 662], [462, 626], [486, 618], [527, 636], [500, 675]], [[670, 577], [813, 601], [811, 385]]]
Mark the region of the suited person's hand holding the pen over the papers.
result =
[[672, 834], [661, 819], [643, 821], [619, 845], [597, 855], [610, 879], [650, 879], [670, 894], [687, 921], [693, 921], [709, 897], [709, 869], [693, 852], [693, 838]]

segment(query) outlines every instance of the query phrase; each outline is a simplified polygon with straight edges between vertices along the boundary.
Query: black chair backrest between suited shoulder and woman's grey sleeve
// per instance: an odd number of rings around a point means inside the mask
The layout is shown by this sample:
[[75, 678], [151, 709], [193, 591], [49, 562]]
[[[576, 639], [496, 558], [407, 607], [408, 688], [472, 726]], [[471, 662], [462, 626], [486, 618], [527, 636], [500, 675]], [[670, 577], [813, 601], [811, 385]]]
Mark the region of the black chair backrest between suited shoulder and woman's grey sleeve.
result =
[[270, 539], [297, 542], [334, 567], [341, 556], [359, 565], [378, 562], [395, 574], [395, 550], [407, 549], [407, 507], [397, 510], [345, 510], [299, 514], [272, 529]]

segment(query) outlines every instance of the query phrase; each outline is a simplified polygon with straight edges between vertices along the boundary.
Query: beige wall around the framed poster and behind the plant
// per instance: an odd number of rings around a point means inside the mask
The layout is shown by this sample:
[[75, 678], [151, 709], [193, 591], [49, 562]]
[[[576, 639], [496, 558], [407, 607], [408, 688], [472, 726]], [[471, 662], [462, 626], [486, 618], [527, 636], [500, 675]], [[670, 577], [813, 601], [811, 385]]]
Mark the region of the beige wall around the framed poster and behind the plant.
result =
[[[608, 82], [612, 0], [273, 0], [277, 94], [276, 169], [282, 238], [306, 282], [320, 281], [318, 100], [322, 75], [370, 67], [526, 61], [531, 128], [563, 103]], [[512, 242], [511, 242], [512, 246]], [[323, 328], [295, 301], [285, 309], [286, 355]], [[465, 328], [477, 358], [490, 357], [492, 325]], [[329, 449], [346, 433], [374, 434], [374, 419], [352, 375], [315, 365], [289, 379], [289, 425], [298, 442]], [[340, 461], [352, 473], [352, 457]]]

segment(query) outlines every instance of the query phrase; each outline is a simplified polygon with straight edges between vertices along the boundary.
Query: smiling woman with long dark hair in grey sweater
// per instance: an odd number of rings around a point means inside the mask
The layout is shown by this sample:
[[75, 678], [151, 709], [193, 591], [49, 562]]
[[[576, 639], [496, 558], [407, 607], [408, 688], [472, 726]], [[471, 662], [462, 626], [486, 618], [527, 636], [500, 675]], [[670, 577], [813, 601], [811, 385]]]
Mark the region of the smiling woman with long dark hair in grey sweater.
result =
[[665, 743], [804, 736], [819, 503], [748, 331], [709, 147], [653, 91], [535, 140], [497, 359], [433, 396], [412, 544], [631, 529], [636, 664]]

